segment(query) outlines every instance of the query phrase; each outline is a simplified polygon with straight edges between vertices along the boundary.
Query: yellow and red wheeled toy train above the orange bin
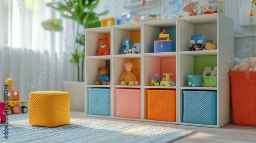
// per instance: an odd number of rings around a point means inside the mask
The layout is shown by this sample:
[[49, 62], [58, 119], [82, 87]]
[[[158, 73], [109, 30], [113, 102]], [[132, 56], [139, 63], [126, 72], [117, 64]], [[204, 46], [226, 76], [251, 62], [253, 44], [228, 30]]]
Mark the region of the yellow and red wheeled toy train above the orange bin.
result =
[[151, 85], [152, 86], [175, 86], [175, 83], [172, 79], [170, 79], [170, 75], [173, 74], [163, 74], [166, 76], [166, 78], [162, 78], [162, 81], [160, 81], [160, 78], [158, 78], [158, 74], [155, 74], [155, 76], [150, 76], [151, 79]]

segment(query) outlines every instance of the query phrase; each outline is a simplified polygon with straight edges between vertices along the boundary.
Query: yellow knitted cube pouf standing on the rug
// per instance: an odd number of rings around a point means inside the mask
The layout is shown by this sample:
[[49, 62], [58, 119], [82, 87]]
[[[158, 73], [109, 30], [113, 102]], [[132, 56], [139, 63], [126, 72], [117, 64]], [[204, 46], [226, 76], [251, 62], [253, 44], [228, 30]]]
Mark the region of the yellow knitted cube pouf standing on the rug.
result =
[[36, 91], [29, 93], [29, 124], [55, 127], [69, 123], [69, 92]]

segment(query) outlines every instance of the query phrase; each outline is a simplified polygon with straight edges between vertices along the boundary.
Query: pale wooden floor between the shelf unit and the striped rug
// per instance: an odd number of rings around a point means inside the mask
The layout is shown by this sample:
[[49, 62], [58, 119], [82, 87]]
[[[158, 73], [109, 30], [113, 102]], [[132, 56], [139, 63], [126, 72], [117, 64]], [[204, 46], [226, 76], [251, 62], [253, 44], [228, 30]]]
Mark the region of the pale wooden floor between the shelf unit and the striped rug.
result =
[[77, 118], [82, 120], [103, 121], [103, 122], [114, 122], [114, 123], [122, 123], [122, 124], [158, 126], [158, 127], [176, 128], [176, 129], [189, 129], [189, 130], [196, 131], [193, 134], [190, 134], [186, 137], [183, 137], [174, 141], [174, 143], [177, 143], [177, 142], [227, 142], [227, 143], [256, 142], [256, 127], [234, 125], [232, 123], [222, 128], [206, 128], [206, 127], [162, 124], [162, 123], [140, 122], [140, 121], [129, 121], [129, 120], [123, 121], [123, 120], [117, 120], [112, 118], [97, 118], [97, 117], [85, 116], [84, 112], [82, 111], [71, 111], [71, 118]]

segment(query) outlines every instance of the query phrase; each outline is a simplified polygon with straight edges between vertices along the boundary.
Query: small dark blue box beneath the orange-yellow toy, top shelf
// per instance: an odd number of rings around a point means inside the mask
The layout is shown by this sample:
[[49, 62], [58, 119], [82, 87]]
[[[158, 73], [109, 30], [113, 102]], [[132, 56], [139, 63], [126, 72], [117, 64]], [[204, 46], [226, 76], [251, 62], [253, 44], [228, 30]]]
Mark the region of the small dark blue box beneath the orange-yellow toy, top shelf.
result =
[[173, 51], [174, 51], [174, 42], [172, 41], [154, 42], [154, 53], [173, 52]]

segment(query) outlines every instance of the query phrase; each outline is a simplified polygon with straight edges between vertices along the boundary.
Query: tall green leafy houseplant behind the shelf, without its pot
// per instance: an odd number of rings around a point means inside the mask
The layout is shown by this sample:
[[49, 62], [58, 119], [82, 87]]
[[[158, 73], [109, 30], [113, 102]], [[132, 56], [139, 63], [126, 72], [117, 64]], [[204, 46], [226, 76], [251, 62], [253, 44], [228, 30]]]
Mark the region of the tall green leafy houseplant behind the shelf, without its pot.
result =
[[[99, 0], [62, 0], [55, 3], [47, 3], [60, 12], [63, 18], [73, 20], [74, 43], [72, 48], [68, 48], [70, 53], [70, 62], [77, 67], [77, 81], [83, 81], [83, 58], [84, 58], [84, 29], [100, 27], [99, 16], [107, 14], [109, 11], [95, 13]], [[42, 22], [45, 30], [61, 31], [62, 23], [60, 19], [49, 19]]]

